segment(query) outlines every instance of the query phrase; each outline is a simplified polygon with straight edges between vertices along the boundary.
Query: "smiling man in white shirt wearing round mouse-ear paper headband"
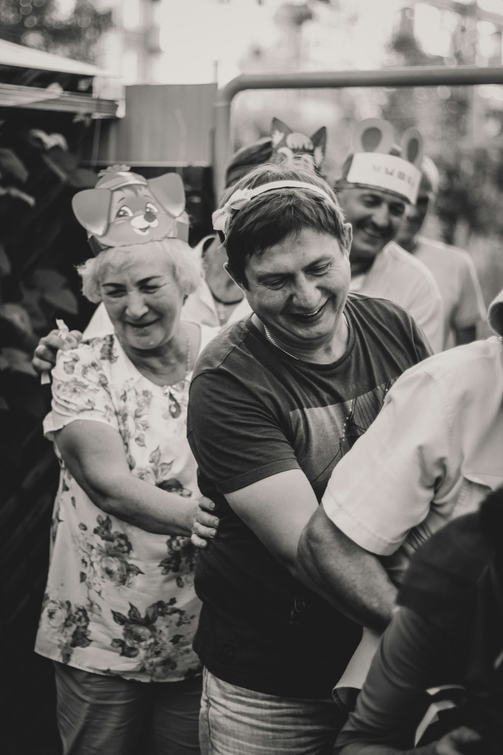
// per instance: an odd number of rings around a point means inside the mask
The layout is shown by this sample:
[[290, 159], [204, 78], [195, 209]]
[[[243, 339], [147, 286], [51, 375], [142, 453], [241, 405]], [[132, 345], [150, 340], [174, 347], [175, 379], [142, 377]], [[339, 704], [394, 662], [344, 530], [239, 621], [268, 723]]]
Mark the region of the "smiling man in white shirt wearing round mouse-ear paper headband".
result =
[[351, 291], [394, 301], [425, 331], [432, 349], [443, 345], [443, 307], [430, 271], [395, 244], [406, 205], [416, 202], [422, 137], [409, 128], [401, 149], [394, 146], [391, 124], [360, 121], [352, 153], [336, 182], [337, 199], [353, 228]]

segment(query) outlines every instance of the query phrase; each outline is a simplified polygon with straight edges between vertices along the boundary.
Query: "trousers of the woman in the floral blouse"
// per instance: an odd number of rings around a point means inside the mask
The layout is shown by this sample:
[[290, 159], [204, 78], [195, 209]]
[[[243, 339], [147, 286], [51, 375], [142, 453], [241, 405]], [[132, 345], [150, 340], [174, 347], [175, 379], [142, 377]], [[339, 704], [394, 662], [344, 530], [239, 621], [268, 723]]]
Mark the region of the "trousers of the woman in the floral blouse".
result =
[[54, 669], [63, 755], [199, 755], [201, 676], [133, 682]]

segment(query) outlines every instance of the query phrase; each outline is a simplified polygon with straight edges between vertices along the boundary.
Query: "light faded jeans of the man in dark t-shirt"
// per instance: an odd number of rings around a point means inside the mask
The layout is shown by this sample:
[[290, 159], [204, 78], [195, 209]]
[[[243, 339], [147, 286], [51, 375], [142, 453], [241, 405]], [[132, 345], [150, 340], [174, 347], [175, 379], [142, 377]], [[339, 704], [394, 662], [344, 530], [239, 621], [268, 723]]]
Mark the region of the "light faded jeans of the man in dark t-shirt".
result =
[[265, 695], [203, 672], [201, 755], [330, 755], [344, 719], [332, 698]]

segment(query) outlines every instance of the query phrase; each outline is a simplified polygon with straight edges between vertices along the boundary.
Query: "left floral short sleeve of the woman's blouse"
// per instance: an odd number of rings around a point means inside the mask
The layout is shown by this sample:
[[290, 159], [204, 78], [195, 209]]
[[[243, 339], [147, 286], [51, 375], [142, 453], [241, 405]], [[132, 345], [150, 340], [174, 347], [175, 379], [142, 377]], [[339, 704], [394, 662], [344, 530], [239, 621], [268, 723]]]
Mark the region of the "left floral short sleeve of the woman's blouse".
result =
[[44, 420], [44, 434], [53, 433], [75, 420], [102, 422], [118, 430], [109, 380], [91, 344], [60, 351], [52, 371], [51, 411]]

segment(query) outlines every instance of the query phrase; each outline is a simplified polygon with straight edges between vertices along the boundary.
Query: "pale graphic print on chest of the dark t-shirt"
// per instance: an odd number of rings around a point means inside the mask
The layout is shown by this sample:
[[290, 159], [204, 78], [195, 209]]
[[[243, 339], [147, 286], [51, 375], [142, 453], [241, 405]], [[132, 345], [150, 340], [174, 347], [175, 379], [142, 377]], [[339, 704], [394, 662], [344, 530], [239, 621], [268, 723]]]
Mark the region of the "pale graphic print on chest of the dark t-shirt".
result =
[[311, 485], [321, 476], [327, 482], [333, 467], [376, 418], [395, 379], [350, 401], [290, 411], [297, 458], [302, 458]]

